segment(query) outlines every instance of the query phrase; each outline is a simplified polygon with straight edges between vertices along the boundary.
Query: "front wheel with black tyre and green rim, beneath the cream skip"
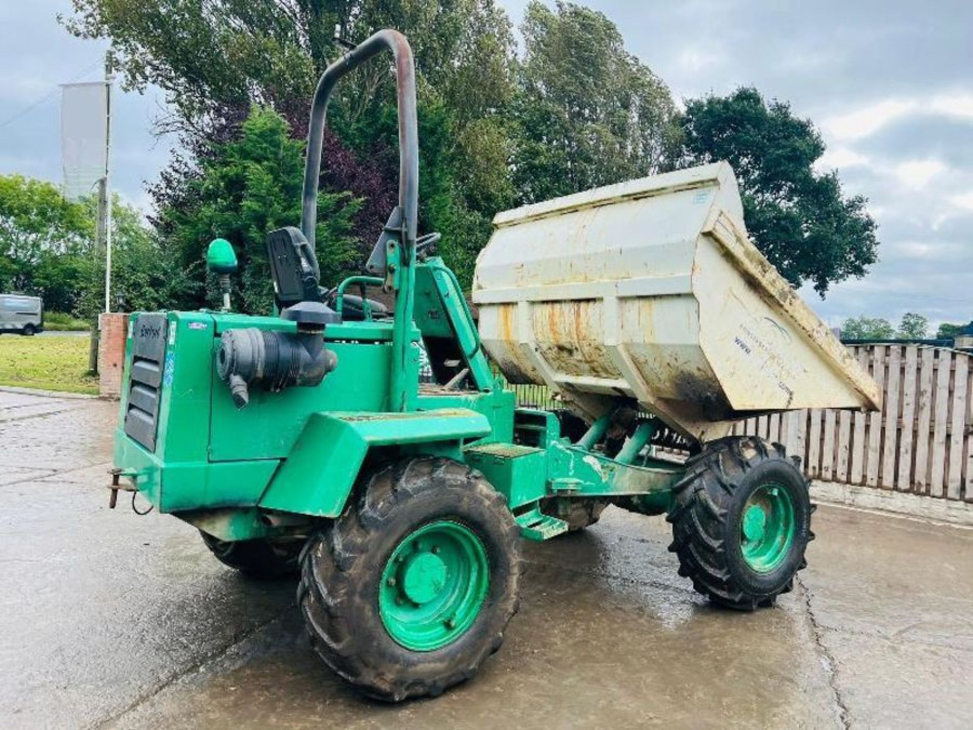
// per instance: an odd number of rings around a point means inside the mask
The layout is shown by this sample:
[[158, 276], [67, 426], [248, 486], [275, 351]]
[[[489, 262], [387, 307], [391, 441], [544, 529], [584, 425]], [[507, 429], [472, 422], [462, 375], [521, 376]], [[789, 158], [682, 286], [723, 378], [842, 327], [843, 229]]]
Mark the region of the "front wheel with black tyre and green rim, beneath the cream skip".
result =
[[676, 486], [669, 550], [679, 574], [710, 601], [743, 610], [773, 605], [807, 565], [811, 512], [808, 481], [780, 444], [719, 439]]

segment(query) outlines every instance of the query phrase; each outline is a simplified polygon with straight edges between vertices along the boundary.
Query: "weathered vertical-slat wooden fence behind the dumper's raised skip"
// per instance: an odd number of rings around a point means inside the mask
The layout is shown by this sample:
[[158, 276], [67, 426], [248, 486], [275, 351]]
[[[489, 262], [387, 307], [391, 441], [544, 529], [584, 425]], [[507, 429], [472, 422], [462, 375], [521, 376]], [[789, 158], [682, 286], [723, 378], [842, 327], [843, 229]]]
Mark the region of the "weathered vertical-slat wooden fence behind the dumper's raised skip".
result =
[[[812, 479], [973, 501], [970, 355], [916, 345], [851, 347], [883, 390], [883, 411], [812, 409], [740, 421], [801, 456]], [[522, 404], [552, 407], [542, 385], [517, 385]]]

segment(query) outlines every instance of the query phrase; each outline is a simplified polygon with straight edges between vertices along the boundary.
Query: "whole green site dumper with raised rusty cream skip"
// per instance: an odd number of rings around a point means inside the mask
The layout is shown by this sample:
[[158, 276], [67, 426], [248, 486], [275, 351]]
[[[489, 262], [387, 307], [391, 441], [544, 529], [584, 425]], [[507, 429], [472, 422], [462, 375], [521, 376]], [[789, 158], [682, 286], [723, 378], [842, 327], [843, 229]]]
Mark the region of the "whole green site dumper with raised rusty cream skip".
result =
[[[321, 140], [335, 84], [389, 51], [399, 200], [367, 274], [320, 286]], [[875, 408], [875, 383], [756, 251], [726, 164], [497, 216], [474, 282], [416, 231], [413, 55], [383, 30], [310, 114], [301, 227], [270, 232], [275, 315], [131, 315], [112, 498], [141, 493], [254, 576], [299, 574], [321, 658], [388, 701], [474, 675], [518, 609], [520, 541], [607, 504], [667, 514], [679, 572], [744, 610], [789, 591], [811, 533], [798, 465], [734, 421]], [[210, 245], [229, 292], [233, 248]], [[394, 310], [367, 287], [394, 292]], [[350, 293], [359, 292], [354, 296]], [[434, 383], [419, 383], [420, 351]], [[495, 376], [545, 383], [518, 407]], [[688, 460], [666, 456], [673, 448]]]

